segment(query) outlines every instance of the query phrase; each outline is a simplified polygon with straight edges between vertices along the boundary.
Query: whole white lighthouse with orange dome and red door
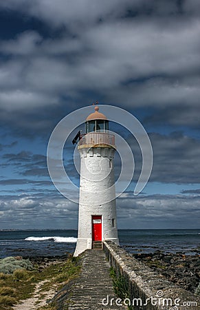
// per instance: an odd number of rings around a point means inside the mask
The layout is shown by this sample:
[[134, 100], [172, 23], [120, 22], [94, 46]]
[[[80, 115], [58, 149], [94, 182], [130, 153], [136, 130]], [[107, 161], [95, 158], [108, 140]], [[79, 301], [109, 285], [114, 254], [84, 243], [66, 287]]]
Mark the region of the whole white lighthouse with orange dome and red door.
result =
[[113, 159], [115, 136], [109, 133], [109, 120], [95, 111], [87, 116], [85, 134], [79, 135], [80, 196], [78, 240], [74, 256], [102, 246], [103, 240], [119, 244]]

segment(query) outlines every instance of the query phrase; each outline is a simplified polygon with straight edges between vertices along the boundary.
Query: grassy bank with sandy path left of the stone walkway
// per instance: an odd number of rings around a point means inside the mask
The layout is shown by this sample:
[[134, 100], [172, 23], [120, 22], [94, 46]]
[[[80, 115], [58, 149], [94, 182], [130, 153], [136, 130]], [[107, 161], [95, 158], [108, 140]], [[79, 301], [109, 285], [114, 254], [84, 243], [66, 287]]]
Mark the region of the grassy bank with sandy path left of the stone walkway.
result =
[[[0, 273], [0, 309], [11, 310], [12, 305], [19, 303], [33, 296], [36, 285], [43, 282], [39, 295], [45, 296], [45, 292], [50, 289], [60, 290], [69, 280], [78, 276], [80, 265], [77, 260], [68, 258], [66, 260], [56, 259], [43, 264], [33, 263], [32, 270], [17, 268], [12, 273]], [[54, 304], [38, 308], [53, 310]]]

